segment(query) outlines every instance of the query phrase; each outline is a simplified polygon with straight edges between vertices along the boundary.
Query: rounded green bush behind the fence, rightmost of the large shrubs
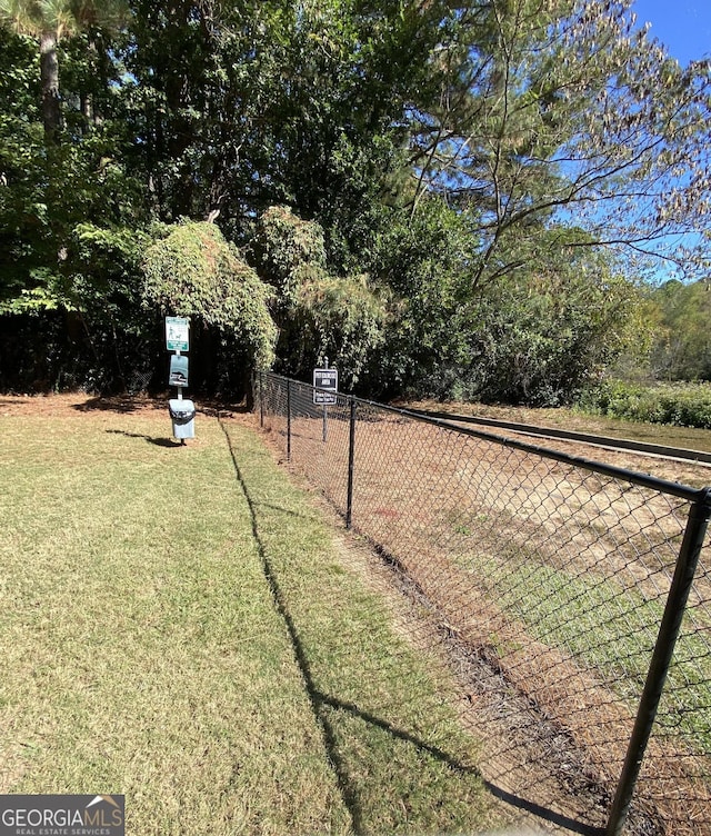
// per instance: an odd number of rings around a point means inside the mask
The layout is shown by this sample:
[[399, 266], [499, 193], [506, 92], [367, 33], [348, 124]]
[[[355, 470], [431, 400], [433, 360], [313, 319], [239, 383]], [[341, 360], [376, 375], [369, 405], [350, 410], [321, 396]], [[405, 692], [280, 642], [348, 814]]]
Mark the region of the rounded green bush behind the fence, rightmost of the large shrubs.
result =
[[570, 402], [629, 345], [634, 286], [587, 248], [571, 247], [567, 260], [551, 258], [545, 242], [560, 235], [539, 232], [538, 255], [482, 288], [463, 379], [470, 395], [532, 406]]

